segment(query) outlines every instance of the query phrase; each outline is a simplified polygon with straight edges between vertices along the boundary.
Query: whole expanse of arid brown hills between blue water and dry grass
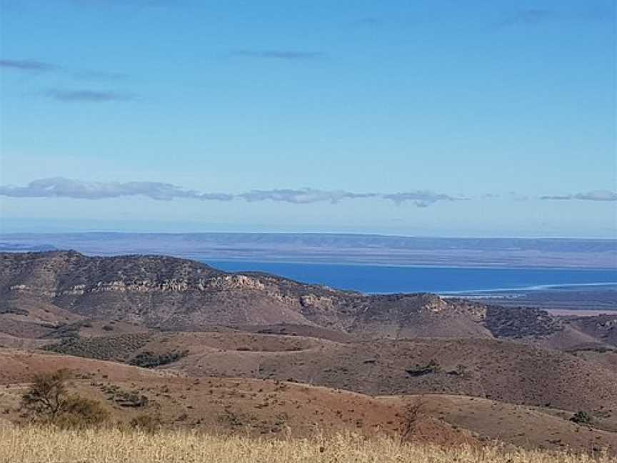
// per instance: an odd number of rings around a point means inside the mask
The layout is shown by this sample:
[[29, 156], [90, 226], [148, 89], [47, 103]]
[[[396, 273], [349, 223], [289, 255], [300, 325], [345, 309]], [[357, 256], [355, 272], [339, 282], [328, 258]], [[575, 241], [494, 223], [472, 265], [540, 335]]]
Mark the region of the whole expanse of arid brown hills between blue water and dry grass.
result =
[[[36, 374], [114, 420], [617, 449], [617, 320], [368, 295], [158, 256], [0, 253], [0, 412]], [[580, 414], [585, 422], [573, 422]]]

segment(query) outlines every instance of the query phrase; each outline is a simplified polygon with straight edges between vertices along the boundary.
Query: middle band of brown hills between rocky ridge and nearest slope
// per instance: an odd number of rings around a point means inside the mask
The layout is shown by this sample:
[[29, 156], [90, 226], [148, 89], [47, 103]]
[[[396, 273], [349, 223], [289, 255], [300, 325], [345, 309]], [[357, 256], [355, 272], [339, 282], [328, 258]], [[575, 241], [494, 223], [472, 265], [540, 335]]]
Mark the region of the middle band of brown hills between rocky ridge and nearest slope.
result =
[[614, 409], [617, 422], [613, 365], [492, 339], [343, 343], [228, 329], [65, 339], [49, 349], [137, 364], [144, 357], [164, 359], [163, 368], [191, 376], [293, 380], [371, 395], [469, 395], [572, 411]]

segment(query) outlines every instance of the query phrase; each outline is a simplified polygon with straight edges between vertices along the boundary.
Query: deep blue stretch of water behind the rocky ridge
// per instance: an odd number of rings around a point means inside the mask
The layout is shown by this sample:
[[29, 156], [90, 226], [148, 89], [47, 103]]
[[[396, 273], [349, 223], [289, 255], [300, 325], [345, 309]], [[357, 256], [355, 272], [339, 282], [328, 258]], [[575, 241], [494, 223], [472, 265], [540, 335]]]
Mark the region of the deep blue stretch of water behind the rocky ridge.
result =
[[471, 293], [584, 286], [617, 289], [617, 269], [478, 269], [204, 261], [226, 272], [268, 272], [367, 293]]

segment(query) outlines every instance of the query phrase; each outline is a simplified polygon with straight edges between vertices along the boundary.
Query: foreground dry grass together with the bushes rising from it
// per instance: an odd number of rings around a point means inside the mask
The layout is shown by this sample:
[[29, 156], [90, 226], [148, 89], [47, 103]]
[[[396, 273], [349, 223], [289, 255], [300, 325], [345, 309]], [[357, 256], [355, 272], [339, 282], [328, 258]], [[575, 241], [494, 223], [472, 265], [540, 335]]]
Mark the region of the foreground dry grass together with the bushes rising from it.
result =
[[0, 463], [174, 463], [174, 462], [409, 462], [409, 463], [608, 463], [616, 459], [593, 447], [588, 452], [531, 451], [505, 444], [416, 439], [421, 402], [408, 404], [400, 434], [321, 433], [294, 437], [286, 428], [278, 437], [254, 437], [249, 429], [229, 434], [204, 429], [165, 429], [157, 417], [141, 414], [115, 422], [106, 407], [73, 394], [67, 370], [37, 374], [21, 397], [29, 420], [0, 422]]

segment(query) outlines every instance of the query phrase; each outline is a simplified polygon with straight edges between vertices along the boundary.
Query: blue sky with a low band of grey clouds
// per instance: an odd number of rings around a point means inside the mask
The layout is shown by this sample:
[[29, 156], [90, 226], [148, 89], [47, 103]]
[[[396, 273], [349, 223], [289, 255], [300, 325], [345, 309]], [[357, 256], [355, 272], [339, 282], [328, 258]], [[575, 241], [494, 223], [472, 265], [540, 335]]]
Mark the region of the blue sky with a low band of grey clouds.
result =
[[0, 2], [2, 231], [617, 237], [614, 1]]

